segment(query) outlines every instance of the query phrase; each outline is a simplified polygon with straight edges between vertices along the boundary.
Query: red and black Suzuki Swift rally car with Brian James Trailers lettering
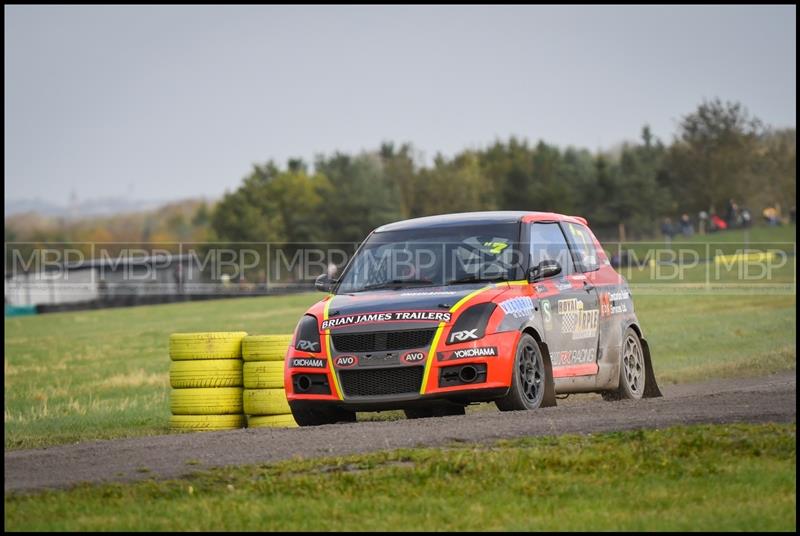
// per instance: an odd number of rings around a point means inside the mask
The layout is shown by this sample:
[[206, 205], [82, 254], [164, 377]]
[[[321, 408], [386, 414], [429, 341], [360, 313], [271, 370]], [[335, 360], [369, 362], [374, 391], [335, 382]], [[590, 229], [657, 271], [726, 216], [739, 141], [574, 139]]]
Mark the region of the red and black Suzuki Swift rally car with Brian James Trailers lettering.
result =
[[586, 220], [430, 216], [375, 229], [300, 319], [284, 383], [301, 426], [660, 396], [626, 281]]

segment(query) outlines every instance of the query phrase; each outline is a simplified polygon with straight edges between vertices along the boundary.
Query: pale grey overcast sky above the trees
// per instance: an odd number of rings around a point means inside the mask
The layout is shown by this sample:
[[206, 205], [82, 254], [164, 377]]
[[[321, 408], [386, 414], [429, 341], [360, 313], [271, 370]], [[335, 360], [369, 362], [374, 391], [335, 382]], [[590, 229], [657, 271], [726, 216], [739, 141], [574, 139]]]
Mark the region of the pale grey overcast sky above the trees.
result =
[[213, 198], [255, 162], [795, 126], [796, 8], [5, 7], [5, 195]]

